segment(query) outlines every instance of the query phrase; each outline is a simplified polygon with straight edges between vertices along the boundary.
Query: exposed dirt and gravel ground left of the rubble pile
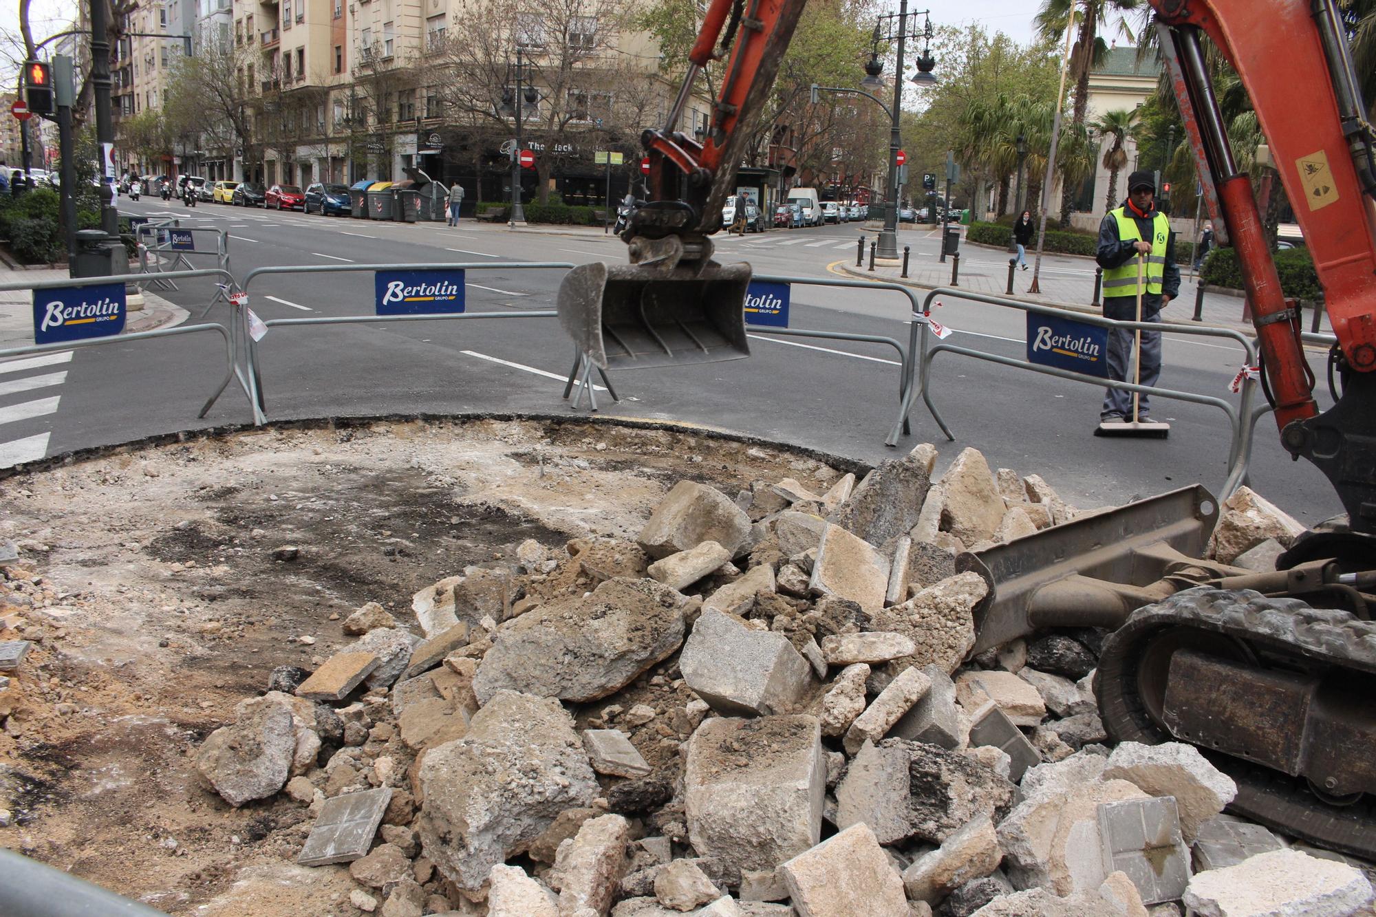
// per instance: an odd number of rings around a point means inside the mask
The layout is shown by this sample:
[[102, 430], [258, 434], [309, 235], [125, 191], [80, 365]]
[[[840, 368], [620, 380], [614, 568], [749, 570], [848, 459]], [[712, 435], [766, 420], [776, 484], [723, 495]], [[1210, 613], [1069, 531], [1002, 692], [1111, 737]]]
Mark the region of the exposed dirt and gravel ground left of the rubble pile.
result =
[[[274, 668], [318, 666], [366, 602], [413, 624], [414, 592], [528, 538], [633, 540], [677, 481], [820, 493], [856, 470], [842, 464], [692, 430], [417, 420], [241, 431], [0, 481], [0, 541], [21, 555], [0, 574], [0, 640], [33, 642], [0, 691], [0, 845], [173, 914], [356, 913], [347, 870], [290, 865], [301, 805], [231, 808], [197, 774], [204, 738]], [[647, 677], [597, 706], [671, 693]]]

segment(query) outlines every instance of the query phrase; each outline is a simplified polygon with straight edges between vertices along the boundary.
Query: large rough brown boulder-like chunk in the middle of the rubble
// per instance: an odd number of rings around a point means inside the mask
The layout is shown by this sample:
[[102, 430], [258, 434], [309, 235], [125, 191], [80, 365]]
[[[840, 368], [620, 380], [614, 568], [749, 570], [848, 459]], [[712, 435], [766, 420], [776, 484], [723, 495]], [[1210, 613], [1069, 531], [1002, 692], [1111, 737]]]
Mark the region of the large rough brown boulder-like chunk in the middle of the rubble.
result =
[[499, 690], [575, 704], [607, 697], [678, 649], [687, 602], [654, 580], [621, 577], [546, 602], [502, 625], [473, 693], [483, 704]]

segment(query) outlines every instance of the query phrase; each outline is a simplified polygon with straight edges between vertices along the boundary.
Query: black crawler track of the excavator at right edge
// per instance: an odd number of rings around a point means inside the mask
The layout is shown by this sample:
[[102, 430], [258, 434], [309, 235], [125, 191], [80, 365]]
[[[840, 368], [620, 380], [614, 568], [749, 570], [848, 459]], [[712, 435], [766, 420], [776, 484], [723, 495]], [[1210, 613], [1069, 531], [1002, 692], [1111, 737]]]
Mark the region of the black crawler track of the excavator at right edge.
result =
[[[1163, 647], [1165, 655], [1198, 650], [1254, 669], [1337, 671], [1359, 679], [1376, 673], [1376, 624], [1370, 621], [1298, 599], [1269, 599], [1251, 589], [1187, 589], [1138, 609], [1105, 640], [1095, 693], [1112, 739], [1148, 745], [1181, 741], [1161, 716], [1165, 687], [1153, 657], [1160, 660]], [[1362, 701], [1369, 704], [1369, 695]], [[1324, 799], [1303, 777], [1196, 746], [1237, 783], [1229, 811], [1320, 847], [1376, 859], [1372, 793]], [[1376, 749], [1357, 744], [1340, 753], [1355, 764], [1370, 760]]]

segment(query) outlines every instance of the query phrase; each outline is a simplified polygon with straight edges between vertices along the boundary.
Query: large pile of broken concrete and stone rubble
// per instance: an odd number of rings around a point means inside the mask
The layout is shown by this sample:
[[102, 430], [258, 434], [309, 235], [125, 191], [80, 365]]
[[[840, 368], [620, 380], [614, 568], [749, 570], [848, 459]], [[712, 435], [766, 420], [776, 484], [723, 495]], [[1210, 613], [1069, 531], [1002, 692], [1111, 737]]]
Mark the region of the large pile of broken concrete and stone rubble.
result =
[[[1097, 632], [966, 658], [987, 587], [955, 555], [1076, 509], [934, 458], [823, 494], [682, 481], [637, 542], [528, 541], [418, 592], [421, 633], [363, 606], [197, 764], [233, 805], [310, 807], [299, 862], [384, 917], [1364, 907], [1361, 870], [1221, 815], [1192, 746], [1099, 744]], [[1291, 525], [1241, 492], [1215, 548], [1263, 563]]]

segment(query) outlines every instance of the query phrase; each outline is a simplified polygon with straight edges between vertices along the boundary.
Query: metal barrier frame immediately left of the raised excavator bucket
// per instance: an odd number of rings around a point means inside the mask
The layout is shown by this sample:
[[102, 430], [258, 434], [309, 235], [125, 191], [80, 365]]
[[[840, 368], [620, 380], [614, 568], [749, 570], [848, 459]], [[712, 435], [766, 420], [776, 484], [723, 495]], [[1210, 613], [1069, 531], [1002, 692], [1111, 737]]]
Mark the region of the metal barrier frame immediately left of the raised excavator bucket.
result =
[[[358, 274], [363, 271], [425, 271], [425, 270], [571, 270], [570, 262], [484, 262], [482, 264], [451, 263], [451, 262], [421, 262], [405, 264], [308, 264], [308, 266], [271, 266], [255, 267], [244, 277], [244, 292], [259, 277], [268, 274]], [[249, 402], [253, 405], [253, 423], [266, 424], [266, 402], [261, 391], [261, 377], [259, 375], [257, 341], [249, 333], [248, 303], [235, 304], [235, 326], [241, 328], [241, 340], [245, 344], [245, 366], [248, 376]], [[453, 321], [473, 318], [557, 318], [559, 313], [552, 308], [516, 310], [501, 313], [438, 313], [424, 315], [322, 315], [318, 318], [271, 318], [263, 321], [264, 328], [289, 328], [301, 325], [374, 325], [378, 322], [420, 322], [420, 321]]]

